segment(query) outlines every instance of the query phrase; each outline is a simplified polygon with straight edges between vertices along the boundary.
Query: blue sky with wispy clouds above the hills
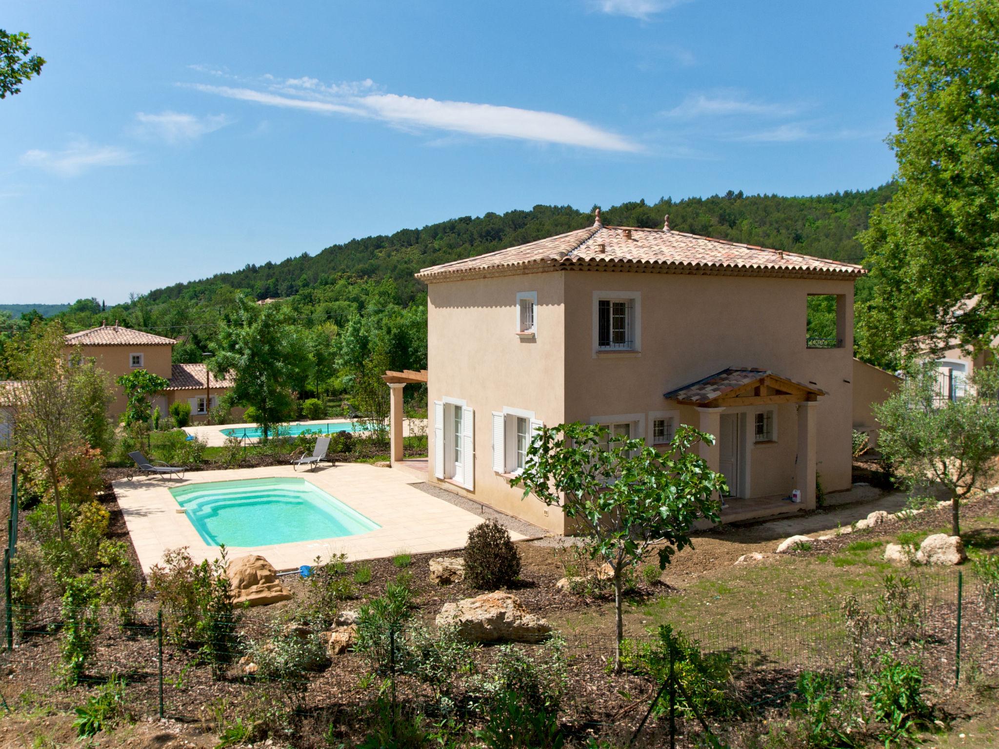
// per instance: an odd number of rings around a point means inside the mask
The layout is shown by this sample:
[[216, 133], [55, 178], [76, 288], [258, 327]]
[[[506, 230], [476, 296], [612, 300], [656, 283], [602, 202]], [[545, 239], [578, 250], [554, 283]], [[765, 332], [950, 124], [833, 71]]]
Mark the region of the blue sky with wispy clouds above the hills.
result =
[[130, 293], [488, 211], [894, 170], [927, 0], [5, 0], [0, 302]]

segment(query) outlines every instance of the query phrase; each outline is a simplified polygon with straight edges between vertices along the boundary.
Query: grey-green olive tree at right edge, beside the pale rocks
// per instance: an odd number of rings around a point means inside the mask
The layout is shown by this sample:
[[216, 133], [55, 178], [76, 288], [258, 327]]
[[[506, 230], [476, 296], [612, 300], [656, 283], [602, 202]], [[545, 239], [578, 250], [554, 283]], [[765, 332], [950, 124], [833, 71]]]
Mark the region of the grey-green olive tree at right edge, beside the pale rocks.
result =
[[963, 397], [941, 396], [933, 364], [914, 365], [897, 392], [874, 405], [877, 446], [899, 482], [923, 491], [938, 482], [953, 498], [951, 535], [960, 534], [961, 500], [988, 488], [999, 455], [999, 370], [972, 375]]

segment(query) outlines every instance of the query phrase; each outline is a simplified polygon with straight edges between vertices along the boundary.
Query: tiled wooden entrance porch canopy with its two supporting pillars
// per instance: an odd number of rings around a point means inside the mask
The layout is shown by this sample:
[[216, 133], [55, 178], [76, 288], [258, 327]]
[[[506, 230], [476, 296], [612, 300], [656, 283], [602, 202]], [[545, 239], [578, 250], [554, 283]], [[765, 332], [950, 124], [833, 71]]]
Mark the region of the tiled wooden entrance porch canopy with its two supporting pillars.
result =
[[794, 487], [801, 492], [801, 508], [815, 508], [815, 413], [825, 392], [793, 379], [755, 368], [728, 368], [696, 382], [669, 390], [663, 396], [698, 411], [697, 428], [713, 434], [714, 442], [699, 442], [697, 450], [714, 471], [721, 470], [721, 413], [741, 405], [797, 403], [798, 440], [794, 460]]

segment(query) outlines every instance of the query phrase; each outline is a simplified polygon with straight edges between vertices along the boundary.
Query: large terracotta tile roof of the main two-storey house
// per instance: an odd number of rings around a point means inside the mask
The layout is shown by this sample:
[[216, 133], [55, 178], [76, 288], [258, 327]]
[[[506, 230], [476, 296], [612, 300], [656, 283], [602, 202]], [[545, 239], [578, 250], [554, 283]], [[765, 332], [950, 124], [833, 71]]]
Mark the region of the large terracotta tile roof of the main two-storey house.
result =
[[663, 229], [594, 224], [586, 229], [425, 268], [421, 281], [505, 276], [528, 271], [615, 270], [639, 273], [781, 276], [851, 280], [863, 268]]

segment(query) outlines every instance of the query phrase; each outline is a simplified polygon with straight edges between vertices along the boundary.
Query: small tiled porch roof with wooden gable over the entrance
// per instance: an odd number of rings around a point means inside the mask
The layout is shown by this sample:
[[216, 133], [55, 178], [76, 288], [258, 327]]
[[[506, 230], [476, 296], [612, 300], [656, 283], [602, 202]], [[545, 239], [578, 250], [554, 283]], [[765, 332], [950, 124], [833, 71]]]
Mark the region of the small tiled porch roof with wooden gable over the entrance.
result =
[[[753, 367], [730, 367], [663, 393], [686, 405], [724, 406], [815, 400], [825, 391]], [[734, 401], [738, 401], [737, 403]]]

